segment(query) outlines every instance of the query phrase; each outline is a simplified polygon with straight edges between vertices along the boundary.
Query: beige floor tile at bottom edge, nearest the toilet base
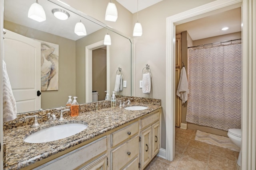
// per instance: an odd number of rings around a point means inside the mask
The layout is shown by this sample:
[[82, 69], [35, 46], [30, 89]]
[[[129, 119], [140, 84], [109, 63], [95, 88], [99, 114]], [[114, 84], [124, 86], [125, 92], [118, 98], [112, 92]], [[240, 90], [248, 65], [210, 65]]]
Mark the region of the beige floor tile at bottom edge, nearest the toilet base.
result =
[[215, 168], [215, 169], [211, 169], [211, 170], [237, 170], [237, 166], [236, 166], [236, 162], [220, 157], [220, 156], [216, 156], [213, 154], [210, 154], [210, 158], [209, 158], [209, 162], [208, 162], [208, 167], [210, 168]]

